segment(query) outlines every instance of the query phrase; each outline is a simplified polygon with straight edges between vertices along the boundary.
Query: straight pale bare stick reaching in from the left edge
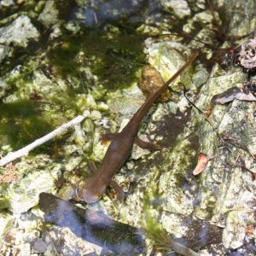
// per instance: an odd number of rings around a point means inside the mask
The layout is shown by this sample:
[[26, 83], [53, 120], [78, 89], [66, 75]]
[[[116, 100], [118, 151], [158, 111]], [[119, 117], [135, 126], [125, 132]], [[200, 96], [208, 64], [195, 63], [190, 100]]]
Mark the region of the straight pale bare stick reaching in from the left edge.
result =
[[79, 125], [79, 123], [81, 123], [86, 117], [88, 117], [89, 114], [90, 112], [88, 110], [85, 110], [82, 115], [77, 116], [76, 118], [72, 119], [64, 125], [61, 125], [57, 129], [55, 129], [55, 131], [51, 131], [44, 137], [38, 138], [33, 143], [28, 144], [24, 148], [20, 148], [15, 152], [10, 152], [0, 160], [0, 166], [5, 166], [6, 164], [9, 164], [11, 161], [27, 155], [30, 151], [32, 151], [32, 149], [37, 148], [38, 146], [48, 142], [54, 137], [60, 135], [63, 131], [67, 131], [68, 128], [73, 127], [75, 125]]

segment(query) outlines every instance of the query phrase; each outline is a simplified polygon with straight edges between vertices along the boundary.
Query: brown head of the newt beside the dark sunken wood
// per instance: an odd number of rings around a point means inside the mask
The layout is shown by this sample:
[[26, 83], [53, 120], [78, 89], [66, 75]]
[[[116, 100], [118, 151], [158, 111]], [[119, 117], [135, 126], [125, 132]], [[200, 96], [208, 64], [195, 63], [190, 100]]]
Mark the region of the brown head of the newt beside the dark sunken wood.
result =
[[82, 197], [85, 202], [93, 203], [102, 197], [107, 189], [107, 185], [96, 179], [95, 177], [89, 177], [85, 180], [85, 188], [82, 191]]

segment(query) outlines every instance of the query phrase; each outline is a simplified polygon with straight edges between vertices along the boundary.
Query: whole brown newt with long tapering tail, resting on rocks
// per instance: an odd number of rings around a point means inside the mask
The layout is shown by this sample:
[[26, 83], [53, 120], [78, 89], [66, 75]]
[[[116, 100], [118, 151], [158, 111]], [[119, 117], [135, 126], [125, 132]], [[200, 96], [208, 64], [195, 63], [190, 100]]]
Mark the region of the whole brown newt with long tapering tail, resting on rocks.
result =
[[103, 157], [102, 164], [98, 170], [92, 161], [89, 161], [90, 170], [93, 172], [92, 177], [85, 180], [85, 187], [82, 190], [82, 197], [85, 202], [93, 203], [98, 201], [108, 186], [112, 187], [117, 192], [118, 199], [124, 197], [124, 191], [118, 183], [114, 182], [112, 177], [119, 169], [125, 164], [125, 161], [130, 157], [133, 144], [136, 143], [141, 148], [147, 148], [149, 150], [160, 149], [160, 146], [154, 143], [144, 142], [137, 137], [140, 124], [143, 117], [148, 113], [155, 100], [167, 89], [177, 76], [183, 73], [183, 71], [190, 65], [192, 61], [198, 55], [198, 51], [194, 51], [189, 60], [177, 70], [171, 79], [148, 97], [146, 102], [143, 103], [141, 108], [137, 110], [137, 113], [133, 115], [124, 129], [119, 133], [104, 134], [101, 138], [102, 142], [111, 143], [108, 146], [107, 152]]

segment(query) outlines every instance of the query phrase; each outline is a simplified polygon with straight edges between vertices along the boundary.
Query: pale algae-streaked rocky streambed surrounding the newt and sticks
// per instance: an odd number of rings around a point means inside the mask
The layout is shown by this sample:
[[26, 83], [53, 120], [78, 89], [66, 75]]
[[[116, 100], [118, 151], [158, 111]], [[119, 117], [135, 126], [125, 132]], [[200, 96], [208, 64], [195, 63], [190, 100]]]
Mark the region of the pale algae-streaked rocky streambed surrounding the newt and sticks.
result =
[[[113, 177], [124, 188], [125, 201], [115, 201], [108, 189], [101, 201], [86, 207], [147, 230], [148, 254], [159, 235], [164, 253], [172, 250], [173, 239], [201, 255], [255, 255], [255, 103], [212, 105], [213, 96], [243, 88], [248, 77], [256, 81], [253, 73], [230, 65], [233, 59], [224, 49], [230, 37], [254, 29], [253, 1], [216, 0], [213, 9], [202, 0], [75, 2], [1, 2], [1, 157], [85, 109], [90, 116], [1, 168], [0, 253], [101, 252], [70, 230], [43, 223], [38, 195], [68, 200], [74, 188], [83, 188], [91, 175], [88, 160], [98, 166], [108, 148], [100, 143], [102, 133], [120, 131], [146, 99], [138, 86], [143, 67], [166, 81], [191, 49], [200, 49], [198, 60], [143, 119], [139, 136], [161, 149], [135, 146]], [[221, 11], [225, 20], [219, 19]], [[202, 113], [190, 108], [181, 84]], [[210, 160], [195, 177], [200, 153]], [[159, 234], [151, 221], [160, 226]]]

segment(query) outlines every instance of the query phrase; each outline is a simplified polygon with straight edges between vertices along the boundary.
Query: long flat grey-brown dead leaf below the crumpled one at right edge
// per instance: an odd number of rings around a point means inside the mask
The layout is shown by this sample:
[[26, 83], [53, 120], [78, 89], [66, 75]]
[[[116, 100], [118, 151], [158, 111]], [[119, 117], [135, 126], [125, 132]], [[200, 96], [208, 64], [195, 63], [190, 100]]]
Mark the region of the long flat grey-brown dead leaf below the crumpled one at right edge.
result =
[[251, 92], [245, 92], [241, 88], [232, 87], [229, 90], [225, 90], [223, 93], [217, 94], [212, 97], [212, 105], [225, 104], [234, 100], [256, 102], [256, 98]]

